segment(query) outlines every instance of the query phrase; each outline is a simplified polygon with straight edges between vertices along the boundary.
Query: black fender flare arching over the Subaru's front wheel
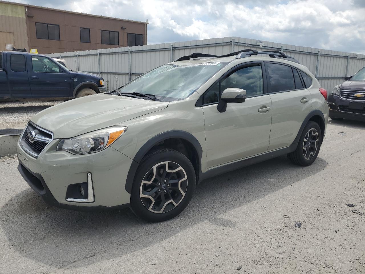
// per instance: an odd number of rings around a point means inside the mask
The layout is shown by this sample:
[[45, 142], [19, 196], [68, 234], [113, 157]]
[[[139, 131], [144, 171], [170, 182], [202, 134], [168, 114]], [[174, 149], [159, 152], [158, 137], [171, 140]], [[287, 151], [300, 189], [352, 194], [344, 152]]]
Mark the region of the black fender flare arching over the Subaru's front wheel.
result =
[[198, 174], [200, 173], [200, 170], [201, 170], [200, 163], [201, 163], [201, 156], [203, 154], [203, 149], [201, 148], [199, 141], [195, 138], [195, 136], [193, 136], [191, 133], [188, 133], [186, 131], [169, 130], [169, 131], [162, 132], [162, 133], [157, 134], [156, 136], [152, 137], [144, 145], [142, 145], [142, 147], [138, 150], [138, 152], [134, 156], [132, 164], [128, 171], [127, 179], [126, 179], [126, 191], [128, 193], [132, 192], [134, 176], [136, 174], [139, 163], [141, 163], [141, 161], [142, 161], [143, 157], [146, 155], [146, 153], [159, 142], [162, 142], [162, 141], [164, 141], [166, 139], [170, 139], [170, 138], [181, 138], [183, 140], [190, 142], [193, 145], [193, 147], [195, 148], [195, 151], [198, 154], [199, 170], [197, 171], [197, 173]]

